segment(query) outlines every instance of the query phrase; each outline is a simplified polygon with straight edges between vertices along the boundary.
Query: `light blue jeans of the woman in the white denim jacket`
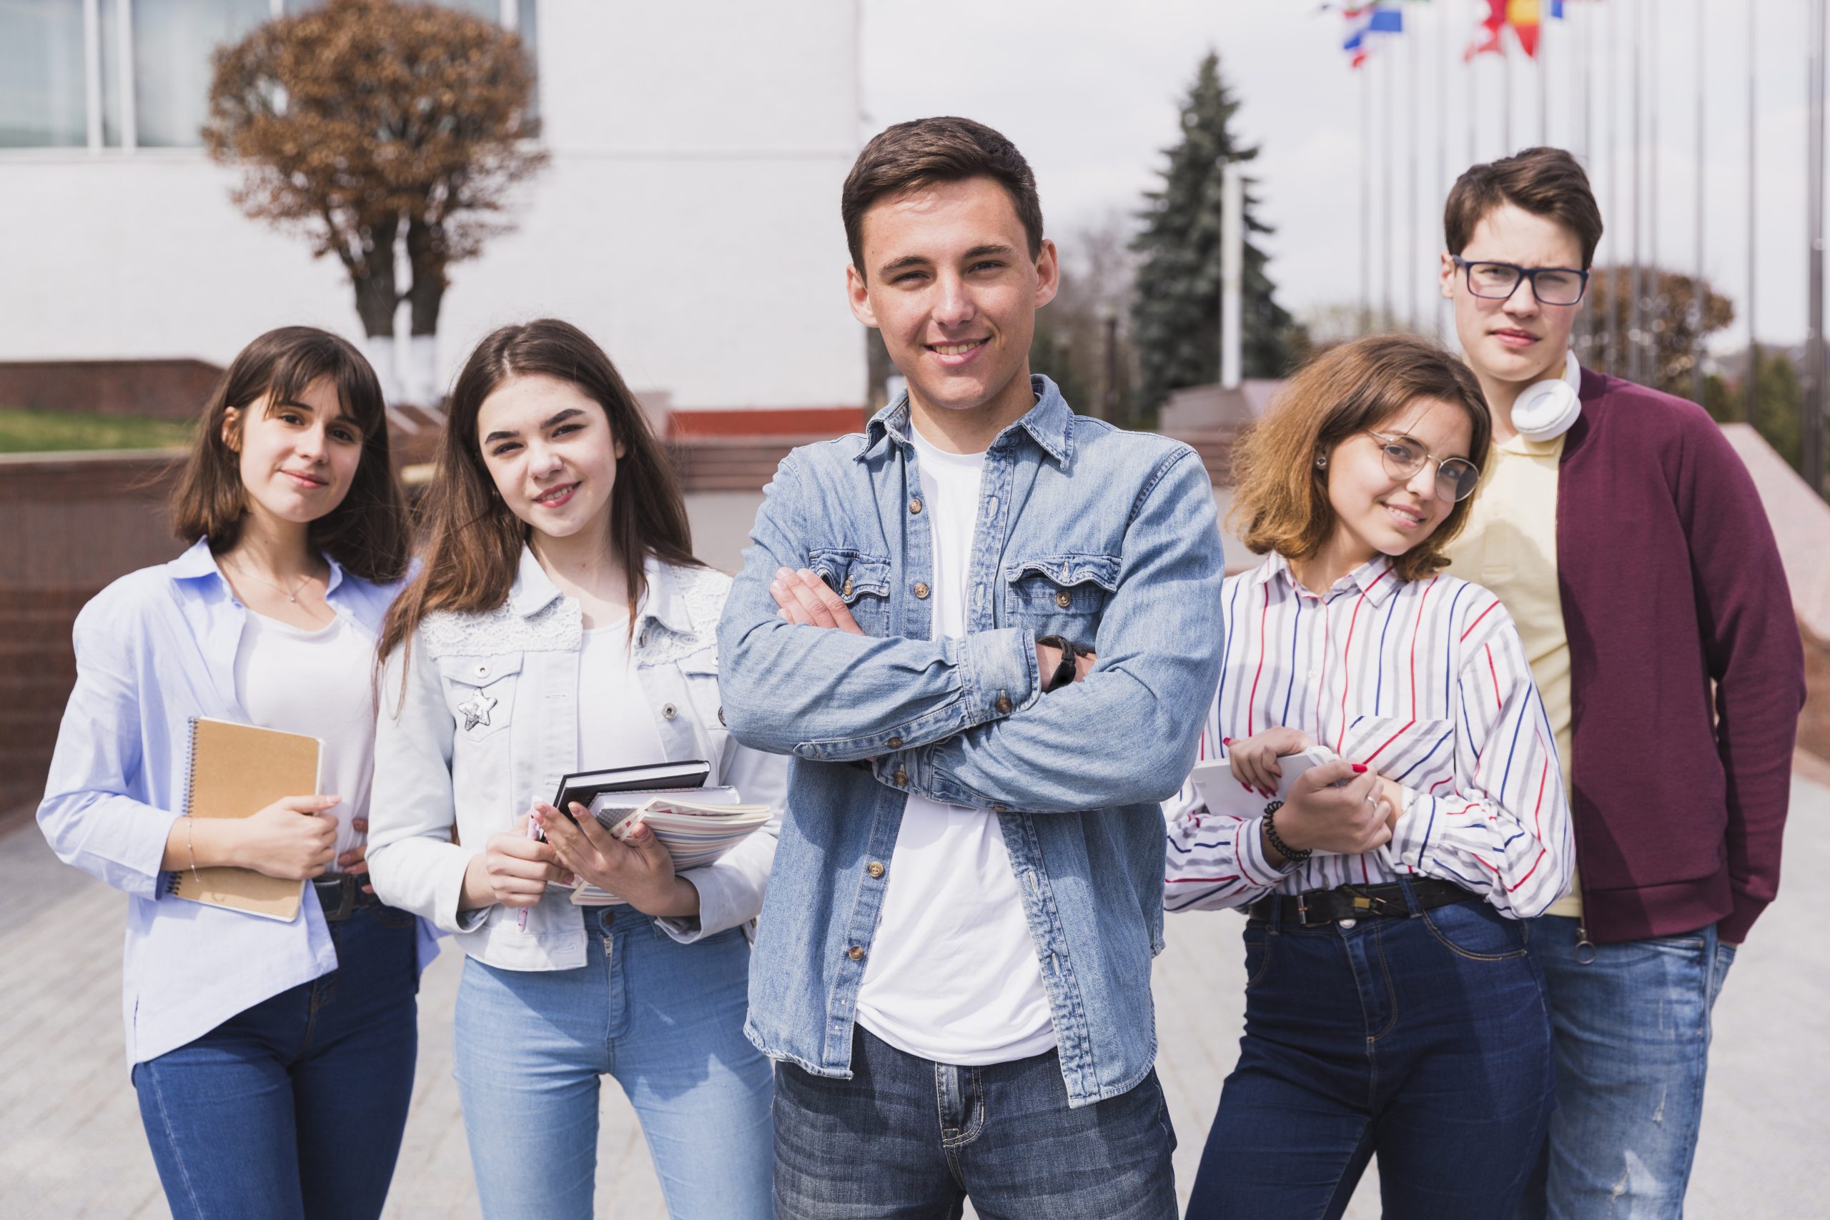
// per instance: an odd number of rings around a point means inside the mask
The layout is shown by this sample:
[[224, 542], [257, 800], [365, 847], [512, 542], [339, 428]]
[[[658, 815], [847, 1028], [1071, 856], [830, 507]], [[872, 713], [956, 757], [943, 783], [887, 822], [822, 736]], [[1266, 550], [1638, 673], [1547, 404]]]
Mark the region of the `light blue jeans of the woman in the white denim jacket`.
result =
[[739, 929], [668, 938], [631, 907], [587, 911], [591, 960], [467, 958], [456, 1076], [489, 1220], [591, 1216], [602, 1076], [635, 1107], [675, 1220], [767, 1220], [769, 1061], [743, 1037]]

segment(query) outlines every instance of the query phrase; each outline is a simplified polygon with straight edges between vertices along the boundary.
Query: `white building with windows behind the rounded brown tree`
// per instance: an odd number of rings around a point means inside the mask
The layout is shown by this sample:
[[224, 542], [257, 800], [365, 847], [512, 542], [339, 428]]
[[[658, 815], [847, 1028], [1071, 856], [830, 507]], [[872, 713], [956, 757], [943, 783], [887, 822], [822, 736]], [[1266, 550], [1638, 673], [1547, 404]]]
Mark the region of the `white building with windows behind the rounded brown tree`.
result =
[[[291, 322], [361, 342], [337, 260], [245, 218], [198, 135], [210, 49], [313, 2], [0, 0], [0, 362], [227, 364]], [[533, 44], [551, 163], [452, 267], [439, 384], [490, 327], [553, 315], [706, 430], [855, 421], [858, 0], [448, 2]]]

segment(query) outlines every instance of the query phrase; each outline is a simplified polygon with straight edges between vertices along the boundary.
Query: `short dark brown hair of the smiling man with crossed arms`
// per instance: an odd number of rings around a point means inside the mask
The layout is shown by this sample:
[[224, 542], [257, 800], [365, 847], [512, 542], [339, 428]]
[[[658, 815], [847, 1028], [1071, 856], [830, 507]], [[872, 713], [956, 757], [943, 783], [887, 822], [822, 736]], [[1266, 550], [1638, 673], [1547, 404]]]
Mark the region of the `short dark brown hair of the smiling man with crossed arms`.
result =
[[1008, 139], [972, 119], [911, 119], [871, 137], [845, 176], [838, 214], [851, 265], [864, 274], [864, 214], [886, 196], [968, 177], [990, 177], [1017, 210], [1030, 258], [1041, 254], [1041, 199], [1028, 161]]

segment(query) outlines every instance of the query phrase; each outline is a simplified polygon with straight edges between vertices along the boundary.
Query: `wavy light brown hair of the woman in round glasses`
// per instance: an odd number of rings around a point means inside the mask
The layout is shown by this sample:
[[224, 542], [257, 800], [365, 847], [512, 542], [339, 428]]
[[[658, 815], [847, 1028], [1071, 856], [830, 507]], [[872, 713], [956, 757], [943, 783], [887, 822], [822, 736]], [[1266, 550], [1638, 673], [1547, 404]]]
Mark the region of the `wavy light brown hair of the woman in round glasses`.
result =
[[[1241, 541], [1254, 554], [1276, 551], [1307, 560], [1334, 534], [1327, 470], [1316, 457], [1341, 441], [1378, 428], [1416, 399], [1453, 402], [1468, 412], [1468, 459], [1486, 461], [1493, 437], [1480, 382], [1468, 366], [1413, 335], [1372, 335], [1341, 344], [1297, 369], [1277, 401], [1233, 448], [1233, 507]], [[1444, 549], [1462, 530], [1473, 496], [1460, 499], [1437, 530], [1400, 556], [1393, 569], [1418, 580], [1448, 565]]]

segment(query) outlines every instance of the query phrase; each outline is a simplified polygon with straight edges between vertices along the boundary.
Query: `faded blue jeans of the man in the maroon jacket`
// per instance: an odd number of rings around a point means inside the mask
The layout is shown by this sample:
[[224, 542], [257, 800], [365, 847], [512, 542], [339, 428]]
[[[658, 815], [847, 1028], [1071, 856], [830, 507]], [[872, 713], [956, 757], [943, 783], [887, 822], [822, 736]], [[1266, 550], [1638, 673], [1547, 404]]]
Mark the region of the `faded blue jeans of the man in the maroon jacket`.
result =
[[1711, 924], [1594, 946], [1583, 962], [1576, 920], [1546, 915], [1532, 957], [1556, 1028], [1557, 1116], [1519, 1216], [1676, 1220], [1704, 1112], [1709, 1010], [1735, 947]]

